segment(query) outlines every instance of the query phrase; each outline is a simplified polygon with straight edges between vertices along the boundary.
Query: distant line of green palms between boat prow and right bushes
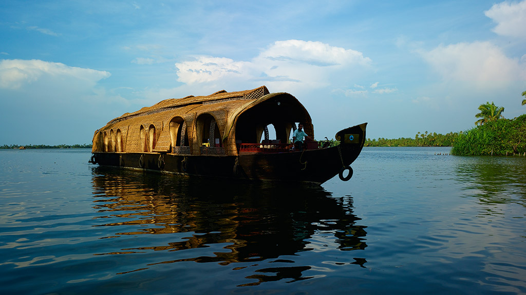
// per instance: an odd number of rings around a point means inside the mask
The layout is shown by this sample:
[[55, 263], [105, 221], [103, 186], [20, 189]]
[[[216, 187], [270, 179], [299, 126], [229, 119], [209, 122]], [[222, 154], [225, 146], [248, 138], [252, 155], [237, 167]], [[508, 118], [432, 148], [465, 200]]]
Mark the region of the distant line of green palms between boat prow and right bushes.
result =
[[459, 134], [457, 132], [450, 132], [448, 134], [440, 133], [424, 133], [418, 132], [414, 138], [399, 138], [399, 139], [367, 139], [365, 146], [451, 146], [457, 139]]

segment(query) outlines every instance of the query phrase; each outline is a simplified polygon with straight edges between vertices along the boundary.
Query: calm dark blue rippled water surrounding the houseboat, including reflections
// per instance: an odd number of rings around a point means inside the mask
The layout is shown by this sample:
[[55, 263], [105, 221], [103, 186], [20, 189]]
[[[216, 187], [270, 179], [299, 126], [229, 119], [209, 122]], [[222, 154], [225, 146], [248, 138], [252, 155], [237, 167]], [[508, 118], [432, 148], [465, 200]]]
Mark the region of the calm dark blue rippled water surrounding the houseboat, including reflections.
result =
[[526, 158], [448, 153], [308, 188], [0, 150], [0, 293], [526, 293]]

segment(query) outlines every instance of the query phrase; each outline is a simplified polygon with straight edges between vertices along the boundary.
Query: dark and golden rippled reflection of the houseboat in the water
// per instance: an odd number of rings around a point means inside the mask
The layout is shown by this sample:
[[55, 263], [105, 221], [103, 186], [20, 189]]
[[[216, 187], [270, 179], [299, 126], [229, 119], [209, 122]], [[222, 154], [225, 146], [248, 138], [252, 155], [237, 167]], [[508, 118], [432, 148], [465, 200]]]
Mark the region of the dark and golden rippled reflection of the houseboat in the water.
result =
[[[173, 259], [165, 255], [162, 261], [145, 264], [145, 268], [195, 261], [238, 263], [232, 266], [235, 269], [245, 267], [243, 262], [271, 259], [292, 263], [290, 267], [258, 269], [250, 278], [259, 282], [296, 280], [310, 269], [291, 260], [299, 252], [366, 247], [365, 226], [356, 224], [360, 218], [353, 214], [352, 198], [334, 198], [321, 187], [182, 178], [103, 167], [94, 168], [93, 186], [94, 208], [101, 221], [97, 226], [115, 227], [105, 238], [139, 237], [134, 239], [134, 247], [112, 249], [101, 255], [173, 252]], [[332, 246], [312, 241], [320, 233], [329, 236], [326, 239]], [[167, 237], [155, 239], [163, 244], [151, 245], [151, 239], [141, 239], [140, 234]], [[215, 256], [188, 257], [188, 251], [177, 255], [179, 250], [213, 244], [222, 244], [225, 251], [214, 252]], [[355, 258], [349, 263], [365, 267], [365, 262]]]

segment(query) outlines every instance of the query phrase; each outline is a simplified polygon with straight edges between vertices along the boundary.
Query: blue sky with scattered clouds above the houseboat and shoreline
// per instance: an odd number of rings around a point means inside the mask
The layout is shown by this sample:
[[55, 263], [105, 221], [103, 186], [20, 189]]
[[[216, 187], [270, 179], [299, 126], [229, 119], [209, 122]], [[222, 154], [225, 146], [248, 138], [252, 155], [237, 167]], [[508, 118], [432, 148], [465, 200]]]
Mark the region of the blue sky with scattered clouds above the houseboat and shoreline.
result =
[[315, 136], [474, 127], [526, 113], [526, 0], [0, 2], [3, 144], [90, 143], [160, 100], [265, 85]]

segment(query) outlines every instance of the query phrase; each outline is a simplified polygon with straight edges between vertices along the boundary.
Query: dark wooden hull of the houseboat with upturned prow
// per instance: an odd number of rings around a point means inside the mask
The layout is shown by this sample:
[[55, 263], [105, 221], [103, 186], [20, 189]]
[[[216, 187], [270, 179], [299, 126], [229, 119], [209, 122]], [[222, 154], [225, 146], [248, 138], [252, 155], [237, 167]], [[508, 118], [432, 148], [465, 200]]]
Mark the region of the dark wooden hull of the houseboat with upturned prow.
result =
[[354, 162], [365, 143], [365, 124], [342, 131], [359, 134], [360, 140], [356, 143], [342, 140], [326, 149], [238, 156], [96, 152], [92, 162], [180, 175], [322, 184]]

